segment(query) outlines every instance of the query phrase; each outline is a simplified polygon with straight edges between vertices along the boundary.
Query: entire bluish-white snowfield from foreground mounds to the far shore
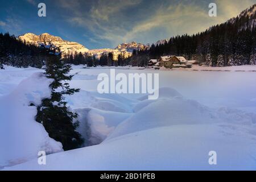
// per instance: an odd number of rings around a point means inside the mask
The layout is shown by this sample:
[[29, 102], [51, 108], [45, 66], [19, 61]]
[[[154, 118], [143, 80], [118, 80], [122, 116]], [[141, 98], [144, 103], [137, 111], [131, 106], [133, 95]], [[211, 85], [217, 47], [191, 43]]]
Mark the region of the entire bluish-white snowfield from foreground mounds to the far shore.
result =
[[[251, 70], [256, 67], [246, 67], [245, 72], [230, 70], [156, 71], [129, 67], [115, 70], [125, 74], [159, 73], [159, 99], [149, 101], [139, 99], [143, 94], [99, 94], [97, 76], [109, 74], [110, 69], [74, 66], [72, 73], [77, 75], [71, 86], [81, 91], [67, 97], [67, 101], [80, 114], [78, 131], [89, 147], [62, 152], [60, 144], [47, 138], [40, 124], [26, 126], [34, 123], [32, 118], [36, 114], [27, 104], [37, 103], [48, 94], [47, 79], [37, 73], [42, 70], [7, 67], [0, 71], [0, 120], [3, 121], [0, 152], [4, 154], [0, 167], [12, 166], [7, 170], [255, 170], [256, 72]], [[40, 131], [40, 135], [34, 137], [35, 131]], [[11, 143], [3, 139], [4, 134], [11, 135]], [[47, 155], [47, 165], [39, 166], [36, 159], [39, 150], [59, 153]], [[208, 163], [209, 151], [217, 152], [217, 165]]]

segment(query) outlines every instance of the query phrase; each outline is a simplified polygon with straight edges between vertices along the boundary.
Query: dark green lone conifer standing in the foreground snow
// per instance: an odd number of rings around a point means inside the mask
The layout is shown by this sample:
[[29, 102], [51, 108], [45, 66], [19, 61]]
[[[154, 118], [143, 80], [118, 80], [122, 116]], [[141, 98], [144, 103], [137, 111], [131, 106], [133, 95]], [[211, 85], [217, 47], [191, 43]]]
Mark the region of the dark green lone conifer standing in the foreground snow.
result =
[[59, 48], [49, 44], [46, 60], [46, 77], [53, 82], [49, 85], [52, 90], [51, 98], [46, 98], [38, 106], [36, 121], [42, 123], [49, 134], [49, 137], [63, 144], [64, 150], [72, 150], [82, 145], [83, 139], [77, 133], [79, 126], [78, 114], [72, 112], [67, 107], [64, 95], [72, 95], [79, 92], [79, 89], [70, 88], [65, 81], [70, 81], [73, 75], [68, 75], [71, 65], [64, 64], [61, 60]]

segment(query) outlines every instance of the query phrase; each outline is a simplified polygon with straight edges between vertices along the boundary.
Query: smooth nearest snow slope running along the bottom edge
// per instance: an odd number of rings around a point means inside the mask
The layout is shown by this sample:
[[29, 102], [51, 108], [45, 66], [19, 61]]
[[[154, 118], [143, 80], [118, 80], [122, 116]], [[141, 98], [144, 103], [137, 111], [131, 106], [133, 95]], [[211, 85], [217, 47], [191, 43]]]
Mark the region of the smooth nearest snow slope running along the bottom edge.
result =
[[[39, 166], [36, 160], [32, 160], [11, 169], [255, 169], [255, 144], [244, 140], [233, 129], [226, 129], [228, 133], [221, 133], [221, 129], [221, 126], [216, 125], [158, 127], [115, 138], [97, 146], [49, 155], [45, 166]], [[218, 154], [216, 166], [208, 164], [208, 152], [213, 149]]]

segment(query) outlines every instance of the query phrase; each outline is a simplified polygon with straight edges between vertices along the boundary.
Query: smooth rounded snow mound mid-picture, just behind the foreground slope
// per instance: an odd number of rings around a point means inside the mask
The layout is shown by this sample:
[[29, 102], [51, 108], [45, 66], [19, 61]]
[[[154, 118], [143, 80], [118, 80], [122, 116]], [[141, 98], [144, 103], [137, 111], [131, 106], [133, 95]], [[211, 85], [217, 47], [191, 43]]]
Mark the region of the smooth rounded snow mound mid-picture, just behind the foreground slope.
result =
[[210, 123], [213, 119], [213, 112], [196, 101], [181, 97], [159, 98], [118, 125], [106, 140], [154, 127]]

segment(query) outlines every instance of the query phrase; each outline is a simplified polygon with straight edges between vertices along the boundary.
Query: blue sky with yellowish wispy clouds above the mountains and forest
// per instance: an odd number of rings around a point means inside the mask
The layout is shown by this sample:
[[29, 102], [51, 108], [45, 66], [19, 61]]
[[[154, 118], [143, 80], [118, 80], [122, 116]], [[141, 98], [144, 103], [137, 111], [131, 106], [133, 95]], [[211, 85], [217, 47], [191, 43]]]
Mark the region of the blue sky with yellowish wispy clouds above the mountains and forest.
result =
[[[46, 4], [46, 17], [38, 4]], [[217, 5], [210, 17], [209, 3]], [[86, 48], [155, 43], [224, 23], [256, 0], [0, 0], [0, 32], [60, 36]]]

